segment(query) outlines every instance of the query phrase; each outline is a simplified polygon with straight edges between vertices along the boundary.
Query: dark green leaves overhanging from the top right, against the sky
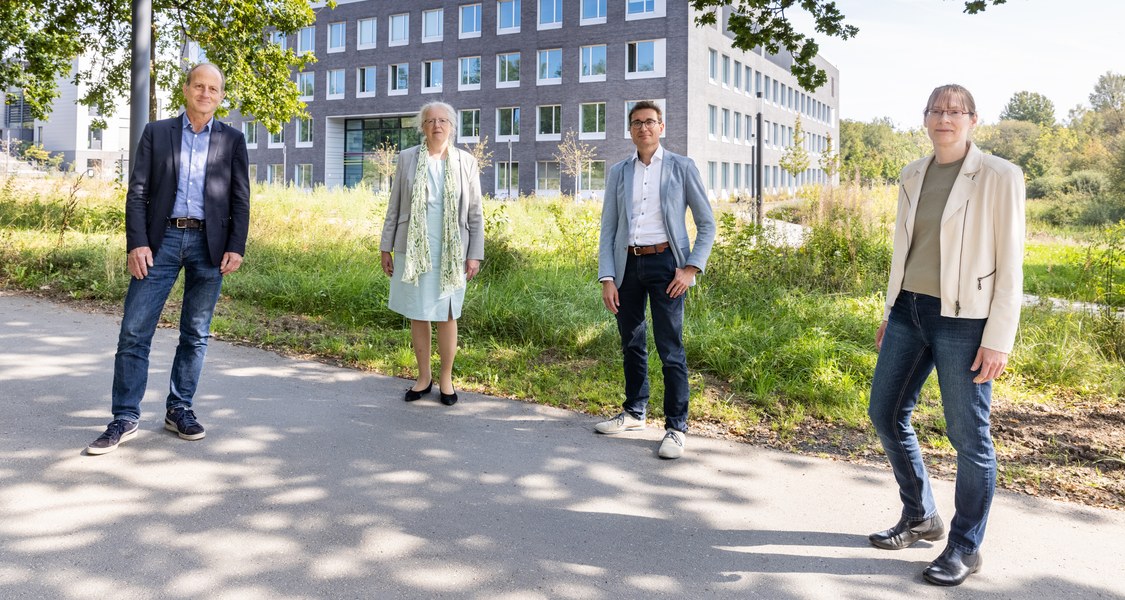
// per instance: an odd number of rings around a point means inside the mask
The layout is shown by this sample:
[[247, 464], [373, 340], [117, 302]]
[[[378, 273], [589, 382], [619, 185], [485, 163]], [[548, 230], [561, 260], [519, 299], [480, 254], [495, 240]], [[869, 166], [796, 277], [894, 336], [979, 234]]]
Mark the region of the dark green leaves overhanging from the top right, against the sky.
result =
[[[966, 0], [964, 11], [974, 15], [989, 5], [1002, 5], [1006, 0]], [[803, 10], [813, 19], [817, 34], [849, 39], [860, 28], [845, 23], [845, 16], [834, 0], [690, 0], [691, 7], [702, 14], [695, 17], [695, 25], [713, 26], [719, 15], [727, 17], [727, 30], [734, 36], [734, 46], [746, 52], [764, 48], [770, 54], [783, 51], [793, 56], [790, 72], [808, 91], [814, 91], [828, 80], [824, 69], [813, 60], [820, 45], [808, 33], [798, 32], [785, 14], [788, 10]]]

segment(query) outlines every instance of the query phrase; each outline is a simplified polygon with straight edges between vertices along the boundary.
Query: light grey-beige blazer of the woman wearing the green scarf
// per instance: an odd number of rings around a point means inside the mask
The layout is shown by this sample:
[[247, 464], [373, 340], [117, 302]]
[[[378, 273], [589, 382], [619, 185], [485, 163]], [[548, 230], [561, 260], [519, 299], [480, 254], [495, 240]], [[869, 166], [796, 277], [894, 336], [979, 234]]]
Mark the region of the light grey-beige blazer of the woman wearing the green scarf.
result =
[[[422, 146], [408, 147], [398, 154], [398, 167], [390, 185], [387, 218], [382, 223], [381, 252], [405, 252], [406, 230], [411, 222], [411, 192]], [[449, 163], [458, 174], [457, 223], [461, 229], [461, 250], [466, 260], [484, 260], [484, 212], [480, 208], [480, 169], [472, 154], [450, 145]]]

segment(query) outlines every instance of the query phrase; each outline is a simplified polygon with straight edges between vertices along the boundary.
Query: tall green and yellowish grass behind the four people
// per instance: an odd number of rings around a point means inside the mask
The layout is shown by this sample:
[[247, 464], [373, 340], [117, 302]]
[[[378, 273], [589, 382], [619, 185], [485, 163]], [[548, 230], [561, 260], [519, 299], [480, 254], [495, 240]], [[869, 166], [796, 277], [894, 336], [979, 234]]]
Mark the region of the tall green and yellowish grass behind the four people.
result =
[[[118, 304], [127, 285], [123, 190], [86, 188], [63, 215], [66, 185], [0, 183], [0, 283]], [[386, 198], [368, 189], [253, 191], [246, 260], [224, 283], [216, 334], [411, 375], [407, 323], [386, 308], [379, 269]], [[688, 293], [692, 419], [736, 432], [762, 421], [784, 432], [809, 417], [864, 427], [894, 190], [802, 190], [801, 204], [788, 211], [808, 226], [800, 247], [742, 221], [739, 208], [717, 207], [720, 235]], [[566, 197], [486, 200], [486, 259], [466, 295], [459, 386], [616, 410], [620, 341], [596, 283], [600, 213], [596, 202]], [[176, 310], [170, 304], [169, 322]], [[1118, 401], [1125, 364], [1107, 349], [1113, 337], [1096, 315], [1025, 311], [1000, 393]], [[659, 360], [651, 355], [651, 413], [659, 417]], [[922, 412], [936, 415], [936, 388], [924, 396]]]

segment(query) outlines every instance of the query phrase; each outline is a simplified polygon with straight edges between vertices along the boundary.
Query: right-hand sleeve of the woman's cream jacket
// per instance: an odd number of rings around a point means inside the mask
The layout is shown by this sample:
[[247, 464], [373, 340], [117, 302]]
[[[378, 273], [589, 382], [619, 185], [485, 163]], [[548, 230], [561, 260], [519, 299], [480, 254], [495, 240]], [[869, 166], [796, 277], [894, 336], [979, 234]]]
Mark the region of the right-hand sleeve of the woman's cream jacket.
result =
[[1011, 352], [1024, 301], [1024, 236], [1026, 234], [1024, 174], [1010, 165], [997, 178], [992, 194], [996, 224], [996, 286], [981, 346]]

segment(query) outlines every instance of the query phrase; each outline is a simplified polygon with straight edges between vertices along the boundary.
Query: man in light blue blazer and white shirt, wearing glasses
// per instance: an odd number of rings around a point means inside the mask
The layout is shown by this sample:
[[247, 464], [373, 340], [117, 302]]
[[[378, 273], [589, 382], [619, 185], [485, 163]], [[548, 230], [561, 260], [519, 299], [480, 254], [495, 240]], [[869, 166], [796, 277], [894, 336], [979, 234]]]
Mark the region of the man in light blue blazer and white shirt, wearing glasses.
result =
[[[629, 111], [637, 152], [610, 169], [602, 205], [597, 277], [602, 302], [616, 316], [624, 355], [626, 401], [616, 417], [594, 426], [598, 433], [645, 428], [648, 347], [645, 304], [664, 365], [664, 439], [660, 458], [684, 455], [687, 432], [687, 358], [684, 296], [703, 272], [714, 243], [714, 216], [695, 163], [660, 146], [664, 119], [655, 102]], [[687, 238], [687, 208], [695, 220], [695, 247]]]

